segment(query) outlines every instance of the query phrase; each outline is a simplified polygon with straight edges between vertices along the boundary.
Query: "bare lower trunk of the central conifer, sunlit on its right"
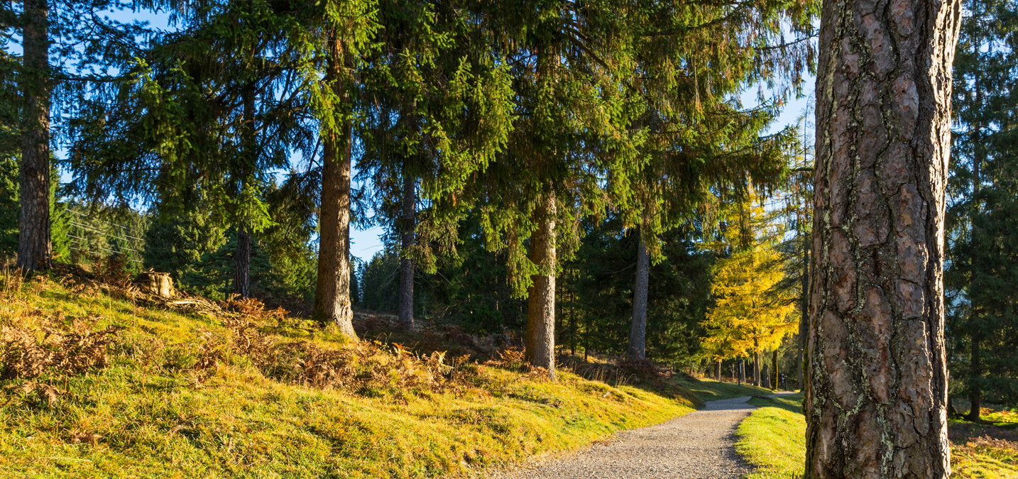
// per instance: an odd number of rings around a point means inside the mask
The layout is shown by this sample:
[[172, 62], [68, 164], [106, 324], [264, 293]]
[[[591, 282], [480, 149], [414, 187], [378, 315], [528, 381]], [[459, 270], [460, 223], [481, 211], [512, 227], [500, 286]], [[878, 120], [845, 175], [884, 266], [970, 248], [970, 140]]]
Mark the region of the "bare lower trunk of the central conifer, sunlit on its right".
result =
[[530, 261], [539, 273], [527, 291], [526, 360], [555, 377], [555, 194], [546, 193], [534, 212], [538, 231], [530, 236]]

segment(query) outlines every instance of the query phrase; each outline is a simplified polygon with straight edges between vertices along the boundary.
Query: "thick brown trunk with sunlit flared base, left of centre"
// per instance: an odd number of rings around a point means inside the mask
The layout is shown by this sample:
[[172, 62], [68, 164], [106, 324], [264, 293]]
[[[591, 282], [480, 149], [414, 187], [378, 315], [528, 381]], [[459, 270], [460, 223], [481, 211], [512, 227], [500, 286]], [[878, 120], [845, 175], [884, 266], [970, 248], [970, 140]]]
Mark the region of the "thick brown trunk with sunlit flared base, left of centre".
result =
[[[333, 37], [329, 41], [329, 58], [325, 81], [332, 85], [343, 107], [349, 105], [342, 44]], [[348, 60], [346, 61], [348, 62]], [[353, 332], [353, 310], [350, 304], [350, 153], [352, 124], [343, 110], [338, 130], [323, 131], [322, 205], [319, 208], [318, 284], [315, 291], [314, 317], [319, 321], [334, 321], [340, 332], [357, 339]], [[337, 117], [340, 116], [337, 114]]]

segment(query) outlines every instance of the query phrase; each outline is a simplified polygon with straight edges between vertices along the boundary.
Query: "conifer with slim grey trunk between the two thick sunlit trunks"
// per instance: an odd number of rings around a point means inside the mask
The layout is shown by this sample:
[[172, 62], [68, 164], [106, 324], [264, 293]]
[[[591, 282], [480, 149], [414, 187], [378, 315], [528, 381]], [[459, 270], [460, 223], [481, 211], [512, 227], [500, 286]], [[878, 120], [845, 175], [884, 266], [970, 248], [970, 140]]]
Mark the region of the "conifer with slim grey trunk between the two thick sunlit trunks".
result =
[[[508, 72], [463, 6], [380, 4], [378, 49], [360, 75], [358, 170], [373, 185], [376, 221], [398, 231], [399, 316], [407, 326], [413, 324], [414, 271], [435, 268], [429, 232], [454, 226], [458, 208], [449, 198], [494, 159], [511, 128]], [[421, 202], [429, 211], [423, 243], [416, 245]]]

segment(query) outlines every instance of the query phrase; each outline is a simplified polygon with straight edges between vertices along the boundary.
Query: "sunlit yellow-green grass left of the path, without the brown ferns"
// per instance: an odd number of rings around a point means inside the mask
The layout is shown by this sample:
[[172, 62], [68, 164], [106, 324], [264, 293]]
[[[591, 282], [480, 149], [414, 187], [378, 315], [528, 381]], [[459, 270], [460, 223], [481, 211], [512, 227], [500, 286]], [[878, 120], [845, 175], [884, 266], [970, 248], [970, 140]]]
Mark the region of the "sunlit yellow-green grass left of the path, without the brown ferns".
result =
[[[193, 363], [200, 333], [227, 334], [218, 320], [46, 282], [0, 300], [4, 325], [84, 316], [97, 320], [94, 330], [125, 327], [109, 367], [35, 379], [66, 390], [52, 404], [6, 387], [23, 381], [0, 381], [0, 476], [475, 475], [659, 423], [695, 402], [568, 372], [549, 382], [495, 367], [483, 368], [482, 387], [404, 398], [278, 382], [244, 356], [227, 357], [202, 379], [179, 365]], [[343, 348], [337, 340], [313, 339]], [[691, 385], [709, 400], [735, 394], [712, 382]]]

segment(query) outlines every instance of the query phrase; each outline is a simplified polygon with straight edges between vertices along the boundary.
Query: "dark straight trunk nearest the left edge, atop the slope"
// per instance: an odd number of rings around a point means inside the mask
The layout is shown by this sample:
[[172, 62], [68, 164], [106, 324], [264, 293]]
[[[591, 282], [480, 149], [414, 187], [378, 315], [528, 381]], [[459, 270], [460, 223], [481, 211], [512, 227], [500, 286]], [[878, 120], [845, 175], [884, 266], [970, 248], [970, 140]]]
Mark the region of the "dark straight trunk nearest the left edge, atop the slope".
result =
[[23, 64], [24, 136], [21, 140], [21, 212], [17, 265], [50, 267], [50, 41], [47, 0], [24, 2]]

